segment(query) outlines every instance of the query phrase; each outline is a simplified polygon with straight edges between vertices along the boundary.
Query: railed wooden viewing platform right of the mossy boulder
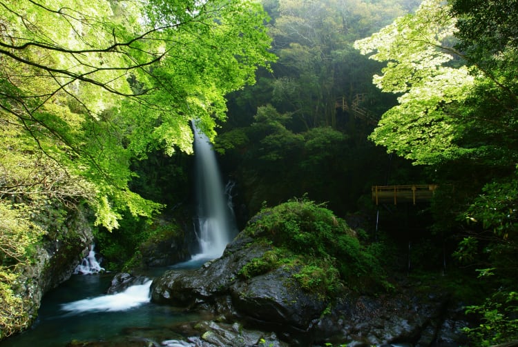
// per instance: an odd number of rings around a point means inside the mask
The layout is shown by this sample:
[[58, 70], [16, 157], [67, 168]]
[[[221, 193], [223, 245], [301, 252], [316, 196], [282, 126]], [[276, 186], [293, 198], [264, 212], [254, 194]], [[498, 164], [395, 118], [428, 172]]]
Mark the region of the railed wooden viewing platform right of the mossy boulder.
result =
[[432, 199], [437, 184], [408, 184], [404, 186], [372, 186], [372, 201], [378, 205], [383, 202], [428, 201]]

